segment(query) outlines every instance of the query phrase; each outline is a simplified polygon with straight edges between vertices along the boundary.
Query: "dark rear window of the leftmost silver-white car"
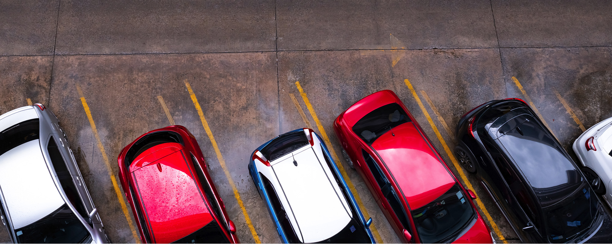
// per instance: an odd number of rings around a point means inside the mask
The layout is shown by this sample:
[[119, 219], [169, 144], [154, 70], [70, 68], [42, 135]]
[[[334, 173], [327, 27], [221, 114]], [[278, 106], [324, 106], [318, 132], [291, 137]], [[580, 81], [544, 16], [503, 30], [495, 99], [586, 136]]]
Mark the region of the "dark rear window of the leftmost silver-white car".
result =
[[39, 138], [39, 119], [26, 120], [0, 132], [0, 155]]

